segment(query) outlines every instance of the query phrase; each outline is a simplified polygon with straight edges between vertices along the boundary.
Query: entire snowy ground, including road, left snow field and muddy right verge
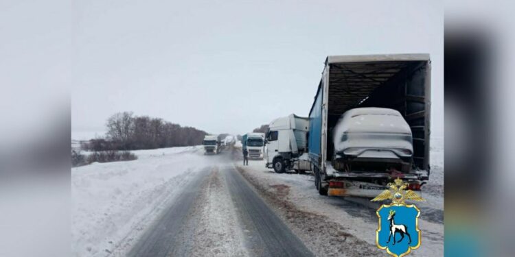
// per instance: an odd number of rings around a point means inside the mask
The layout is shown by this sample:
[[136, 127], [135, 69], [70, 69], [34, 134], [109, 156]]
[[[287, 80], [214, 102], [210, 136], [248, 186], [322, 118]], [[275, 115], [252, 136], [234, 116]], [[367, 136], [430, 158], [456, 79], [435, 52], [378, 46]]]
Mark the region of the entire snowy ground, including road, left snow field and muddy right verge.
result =
[[[243, 167], [240, 149], [135, 154], [72, 169], [73, 256], [385, 256], [377, 206], [320, 196], [310, 175], [276, 174], [262, 160]], [[443, 140], [431, 158], [413, 256], [443, 255]]]

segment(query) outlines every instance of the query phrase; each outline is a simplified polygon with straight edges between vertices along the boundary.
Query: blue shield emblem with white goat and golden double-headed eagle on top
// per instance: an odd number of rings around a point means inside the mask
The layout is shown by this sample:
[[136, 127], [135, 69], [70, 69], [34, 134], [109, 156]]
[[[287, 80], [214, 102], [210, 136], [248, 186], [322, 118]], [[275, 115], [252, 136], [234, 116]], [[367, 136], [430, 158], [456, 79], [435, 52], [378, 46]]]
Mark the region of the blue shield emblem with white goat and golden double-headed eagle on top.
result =
[[391, 204], [383, 204], [376, 211], [379, 219], [376, 245], [379, 249], [386, 249], [391, 256], [402, 257], [420, 247], [421, 242], [418, 229], [420, 210], [414, 204], [406, 204], [404, 201], [425, 200], [415, 192], [406, 190], [408, 183], [400, 178], [394, 182], [389, 183], [389, 188], [371, 201], [391, 200]]

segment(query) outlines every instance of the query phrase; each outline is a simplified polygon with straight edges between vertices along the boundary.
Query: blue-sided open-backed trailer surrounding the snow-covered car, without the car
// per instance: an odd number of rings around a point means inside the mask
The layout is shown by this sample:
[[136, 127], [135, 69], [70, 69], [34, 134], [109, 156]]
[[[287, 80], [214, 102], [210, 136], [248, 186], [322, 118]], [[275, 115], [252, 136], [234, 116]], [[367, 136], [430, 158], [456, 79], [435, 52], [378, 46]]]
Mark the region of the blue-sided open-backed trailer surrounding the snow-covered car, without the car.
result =
[[[366, 172], [334, 169], [333, 129], [341, 115], [352, 108], [377, 107], [398, 110], [413, 136], [411, 171]], [[315, 181], [324, 194], [328, 182], [344, 180], [343, 188], [380, 190], [391, 178], [427, 180], [431, 114], [431, 61], [428, 54], [328, 56], [310, 110], [310, 160]], [[341, 184], [339, 184], [341, 185]], [[379, 187], [378, 187], [379, 186]], [[335, 188], [336, 189], [336, 188]], [[341, 190], [337, 195], [353, 195]], [[363, 194], [362, 194], [363, 195]]]

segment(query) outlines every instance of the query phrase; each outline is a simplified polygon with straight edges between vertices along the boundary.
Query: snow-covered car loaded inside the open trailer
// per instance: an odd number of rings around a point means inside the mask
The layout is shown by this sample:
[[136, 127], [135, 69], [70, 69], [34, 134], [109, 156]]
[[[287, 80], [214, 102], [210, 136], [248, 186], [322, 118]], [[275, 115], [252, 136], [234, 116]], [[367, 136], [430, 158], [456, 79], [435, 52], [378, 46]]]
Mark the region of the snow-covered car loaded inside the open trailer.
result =
[[411, 128], [400, 112], [355, 108], [343, 113], [332, 130], [332, 165], [340, 171], [411, 170]]

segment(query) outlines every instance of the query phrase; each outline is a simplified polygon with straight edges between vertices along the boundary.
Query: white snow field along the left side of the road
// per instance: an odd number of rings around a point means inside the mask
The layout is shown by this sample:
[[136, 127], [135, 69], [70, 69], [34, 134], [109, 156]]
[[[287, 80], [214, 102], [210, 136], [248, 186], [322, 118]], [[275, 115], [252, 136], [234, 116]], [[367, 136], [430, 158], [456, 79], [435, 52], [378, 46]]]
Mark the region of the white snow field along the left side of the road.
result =
[[122, 255], [194, 174], [203, 148], [133, 151], [137, 160], [71, 169], [73, 256]]

